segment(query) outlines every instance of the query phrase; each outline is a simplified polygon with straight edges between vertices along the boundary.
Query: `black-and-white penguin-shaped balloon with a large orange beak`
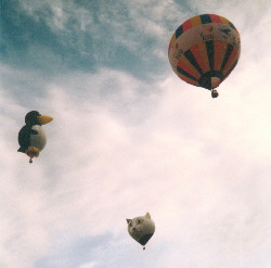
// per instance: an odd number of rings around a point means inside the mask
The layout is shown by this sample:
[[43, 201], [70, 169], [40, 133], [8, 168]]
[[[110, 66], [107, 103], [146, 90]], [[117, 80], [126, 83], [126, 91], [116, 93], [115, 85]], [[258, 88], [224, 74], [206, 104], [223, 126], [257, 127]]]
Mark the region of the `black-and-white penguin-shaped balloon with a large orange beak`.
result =
[[18, 152], [26, 153], [33, 163], [33, 157], [38, 157], [39, 152], [46, 146], [47, 137], [41, 125], [48, 124], [53, 118], [31, 111], [25, 116], [25, 126], [18, 132]]

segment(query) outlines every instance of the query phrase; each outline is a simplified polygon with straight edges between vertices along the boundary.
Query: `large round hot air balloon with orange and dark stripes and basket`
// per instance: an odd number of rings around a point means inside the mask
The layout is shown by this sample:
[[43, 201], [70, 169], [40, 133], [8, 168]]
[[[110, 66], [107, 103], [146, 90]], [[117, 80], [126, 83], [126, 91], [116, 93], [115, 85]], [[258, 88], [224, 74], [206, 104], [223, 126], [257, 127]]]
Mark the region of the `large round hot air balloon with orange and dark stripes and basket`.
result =
[[172, 35], [168, 58], [173, 72], [184, 81], [211, 90], [233, 71], [240, 59], [241, 40], [234, 25], [215, 14], [193, 16]]

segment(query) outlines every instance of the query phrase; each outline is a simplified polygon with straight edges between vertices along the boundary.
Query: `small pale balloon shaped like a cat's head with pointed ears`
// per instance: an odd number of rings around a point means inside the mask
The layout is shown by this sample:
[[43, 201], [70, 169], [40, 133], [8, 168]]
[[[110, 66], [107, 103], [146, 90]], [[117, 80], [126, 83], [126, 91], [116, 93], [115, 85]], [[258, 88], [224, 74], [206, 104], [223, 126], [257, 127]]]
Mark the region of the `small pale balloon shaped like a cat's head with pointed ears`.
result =
[[141, 245], [143, 245], [143, 250], [145, 250], [144, 245], [153, 237], [155, 231], [155, 225], [154, 221], [151, 219], [151, 215], [146, 213], [145, 216], [126, 220], [128, 224], [129, 234]]

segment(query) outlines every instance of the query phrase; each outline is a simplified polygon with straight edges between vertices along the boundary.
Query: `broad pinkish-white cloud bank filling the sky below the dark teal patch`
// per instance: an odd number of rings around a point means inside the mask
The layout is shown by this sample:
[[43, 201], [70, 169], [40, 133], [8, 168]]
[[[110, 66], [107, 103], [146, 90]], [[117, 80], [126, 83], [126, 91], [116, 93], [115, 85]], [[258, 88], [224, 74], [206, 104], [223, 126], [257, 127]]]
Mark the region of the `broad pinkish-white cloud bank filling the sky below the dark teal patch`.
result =
[[[153, 12], [165, 14], [165, 7]], [[88, 248], [93, 259], [79, 259], [76, 267], [119, 267], [132, 254], [131, 267], [138, 267], [141, 248], [125, 219], [150, 212], [156, 232], [145, 267], [235, 268], [243, 261], [267, 268], [270, 55], [259, 59], [256, 51], [270, 38], [241, 31], [241, 62], [216, 100], [172, 73], [145, 84], [108, 68], [46, 81], [42, 94], [21, 95], [27, 104], [8, 93], [9, 84], [1, 86], [2, 266], [35, 267], [40, 259], [64, 258], [77, 239], [109, 234]], [[20, 77], [20, 85], [39, 79], [23, 71], [4, 74]], [[16, 136], [31, 105], [54, 120], [44, 126], [46, 149], [29, 165], [16, 152]]]

